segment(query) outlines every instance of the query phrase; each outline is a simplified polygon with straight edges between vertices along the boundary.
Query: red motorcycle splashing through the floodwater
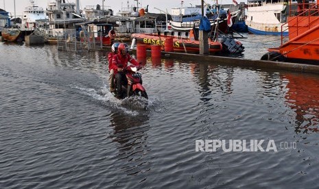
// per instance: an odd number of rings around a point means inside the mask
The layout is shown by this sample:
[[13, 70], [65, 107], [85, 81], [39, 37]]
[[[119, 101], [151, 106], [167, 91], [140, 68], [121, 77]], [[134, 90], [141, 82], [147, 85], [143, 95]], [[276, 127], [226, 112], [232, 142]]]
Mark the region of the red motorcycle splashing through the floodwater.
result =
[[[126, 82], [121, 84], [121, 94], [119, 94], [118, 89], [116, 88], [115, 97], [118, 99], [125, 99], [126, 97], [139, 96], [148, 99], [147, 92], [142, 86], [142, 75], [137, 71], [141, 69], [141, 66], [130, 65], [123, 70], [123, 73], [126, 75]], [[114, 79], [114, 84], [117, 86], [117, 79]]]

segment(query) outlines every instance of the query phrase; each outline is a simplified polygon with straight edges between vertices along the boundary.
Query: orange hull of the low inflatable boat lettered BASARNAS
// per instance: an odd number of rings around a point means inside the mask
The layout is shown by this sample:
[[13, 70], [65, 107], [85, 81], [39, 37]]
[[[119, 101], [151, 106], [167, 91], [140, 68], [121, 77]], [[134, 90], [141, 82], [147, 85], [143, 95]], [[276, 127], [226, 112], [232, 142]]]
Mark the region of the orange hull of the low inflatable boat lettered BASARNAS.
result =
[[[138, 45], [146, 45], [147, 49], [151, 49], [151, 45], [165, 46], [165, 36], [154, 36], [153, 34], [132, 34], [132, 38], [137, 40]], [[166, 36], [172, 38], [172, 36]], [[198, 40], [190, 40], [173, 37], [173, 46], [175, 52], [199, 53], [200, 42]], [[184, 48], [185, 47], [185, 48]], [[217, 53], [222, 51], [222, 43], [209, 40], [209, 52]]]

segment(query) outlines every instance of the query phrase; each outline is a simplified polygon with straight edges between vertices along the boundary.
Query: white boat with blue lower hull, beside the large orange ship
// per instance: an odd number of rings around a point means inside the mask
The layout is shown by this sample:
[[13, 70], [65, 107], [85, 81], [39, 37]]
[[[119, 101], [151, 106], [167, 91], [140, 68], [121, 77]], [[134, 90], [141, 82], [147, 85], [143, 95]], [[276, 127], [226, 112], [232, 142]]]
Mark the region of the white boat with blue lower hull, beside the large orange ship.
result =
[[248, 31], [251, 34], [287, 36], [287, 26], [283, 26], [285, 32], [281, 33], [281, 25], [287, 21], [288, 8], [287, 0], [248, 0]]

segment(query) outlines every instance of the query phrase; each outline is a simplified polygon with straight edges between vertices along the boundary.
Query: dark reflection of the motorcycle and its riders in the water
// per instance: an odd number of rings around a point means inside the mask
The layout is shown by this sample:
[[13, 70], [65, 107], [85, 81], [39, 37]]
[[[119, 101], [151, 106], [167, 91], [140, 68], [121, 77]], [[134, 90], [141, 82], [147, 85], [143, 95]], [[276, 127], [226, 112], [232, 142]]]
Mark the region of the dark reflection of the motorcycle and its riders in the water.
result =
[[117, 159], [121, 161], [121, 169], [127, 175], [150, 171], [149, 162], [145, 160], [147, 151], [150, 151], [147, 146], [147, 131], [150, 129], [149, 116], [113, 112], [110, 118], [113, 134], [110, 134], [109, 137], [118, 143]]

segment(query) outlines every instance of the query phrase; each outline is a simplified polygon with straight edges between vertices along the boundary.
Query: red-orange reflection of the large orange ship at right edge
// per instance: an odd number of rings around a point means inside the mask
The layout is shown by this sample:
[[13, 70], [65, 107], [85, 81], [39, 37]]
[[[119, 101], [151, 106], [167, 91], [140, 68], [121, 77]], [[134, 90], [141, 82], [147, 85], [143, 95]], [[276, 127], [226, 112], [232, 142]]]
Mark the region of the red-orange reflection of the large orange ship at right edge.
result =
[[287, 73], [287, 104], [296, 112], [296, 134], [319, 131], [319, 84], [318, 77]]

